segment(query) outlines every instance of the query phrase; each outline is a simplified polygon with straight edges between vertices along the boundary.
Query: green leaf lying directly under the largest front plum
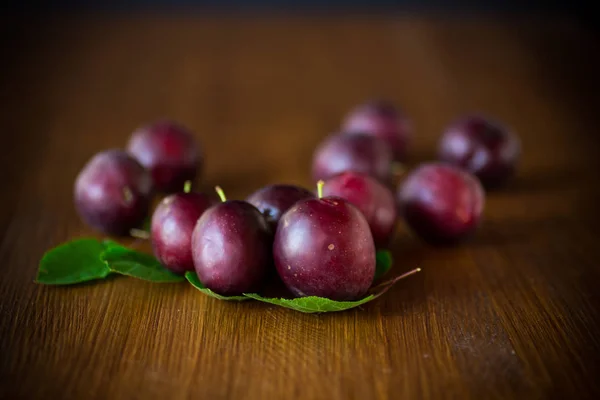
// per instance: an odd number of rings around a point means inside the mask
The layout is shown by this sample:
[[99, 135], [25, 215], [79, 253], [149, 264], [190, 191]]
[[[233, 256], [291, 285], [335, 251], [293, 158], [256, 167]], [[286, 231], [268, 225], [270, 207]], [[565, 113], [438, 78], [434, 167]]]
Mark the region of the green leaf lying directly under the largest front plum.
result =
[[377, 297], [376, 295], [369, 295], [364, 299], [357, 301], [335, 301], [316, 296], [298, 297], [295, 299], [266, 298], [254, 293], [244, 294], [244, 296], [250, 297], [254, 300], [262, 301], [264, 303], [270, 303], [276, 306], [290, 308], [292, 310], [300, 311], [303, 313], [321, 313], [349, 310], [351, 308], [358, 307], [361, 304], [368, 303], [369, 301]]

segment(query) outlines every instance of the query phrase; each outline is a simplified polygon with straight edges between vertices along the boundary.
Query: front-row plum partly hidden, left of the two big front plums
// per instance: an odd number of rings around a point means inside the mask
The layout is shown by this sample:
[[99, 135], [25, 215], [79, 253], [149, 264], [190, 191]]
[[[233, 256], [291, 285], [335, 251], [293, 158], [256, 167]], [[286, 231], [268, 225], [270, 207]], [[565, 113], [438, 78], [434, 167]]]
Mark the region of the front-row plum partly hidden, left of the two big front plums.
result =
[[167, 269], [183, 274], [194, 270], [192, 232], [196, 222], [216, 200], [202, 193], [176, 193], [154, 210], [150, 238], [154, 255]]

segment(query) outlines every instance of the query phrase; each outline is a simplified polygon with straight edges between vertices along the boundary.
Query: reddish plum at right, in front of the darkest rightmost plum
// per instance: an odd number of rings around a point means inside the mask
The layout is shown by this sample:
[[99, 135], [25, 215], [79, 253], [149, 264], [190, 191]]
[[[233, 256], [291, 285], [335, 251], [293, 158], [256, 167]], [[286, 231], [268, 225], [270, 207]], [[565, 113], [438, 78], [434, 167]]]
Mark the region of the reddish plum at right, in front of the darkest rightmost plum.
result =
[[397, 200], [407, 225], [431, 244], [453, 244], [478, 228], [485, 192], [468, 172], [443, 163], [423, 164], [399, 186]]

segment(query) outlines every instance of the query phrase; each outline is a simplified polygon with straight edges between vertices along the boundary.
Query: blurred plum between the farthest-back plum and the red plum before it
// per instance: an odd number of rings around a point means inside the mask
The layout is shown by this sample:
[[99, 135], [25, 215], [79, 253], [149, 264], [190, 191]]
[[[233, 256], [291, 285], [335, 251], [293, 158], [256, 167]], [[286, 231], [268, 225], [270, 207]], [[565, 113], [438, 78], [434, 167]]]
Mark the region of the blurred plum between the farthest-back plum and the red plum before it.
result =
[[391, 181], [392, 162], [391, 149], [382, 139], [366, 134], [336, 134], [315, 150], [312, 175], [318, 181], [355, 171], [387, 184]]

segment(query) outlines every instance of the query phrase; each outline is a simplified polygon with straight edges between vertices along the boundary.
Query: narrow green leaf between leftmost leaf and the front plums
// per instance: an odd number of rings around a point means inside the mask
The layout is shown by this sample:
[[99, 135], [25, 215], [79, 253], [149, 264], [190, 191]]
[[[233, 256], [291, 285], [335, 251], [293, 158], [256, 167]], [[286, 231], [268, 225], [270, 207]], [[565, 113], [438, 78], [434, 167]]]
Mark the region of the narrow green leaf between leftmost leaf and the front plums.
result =
[[118, 243], [105, 241], [100, 259], [111, 272], [155, 283], [182, 282], [183, 276], [169, 271], [150, 254], [128, 249]]

